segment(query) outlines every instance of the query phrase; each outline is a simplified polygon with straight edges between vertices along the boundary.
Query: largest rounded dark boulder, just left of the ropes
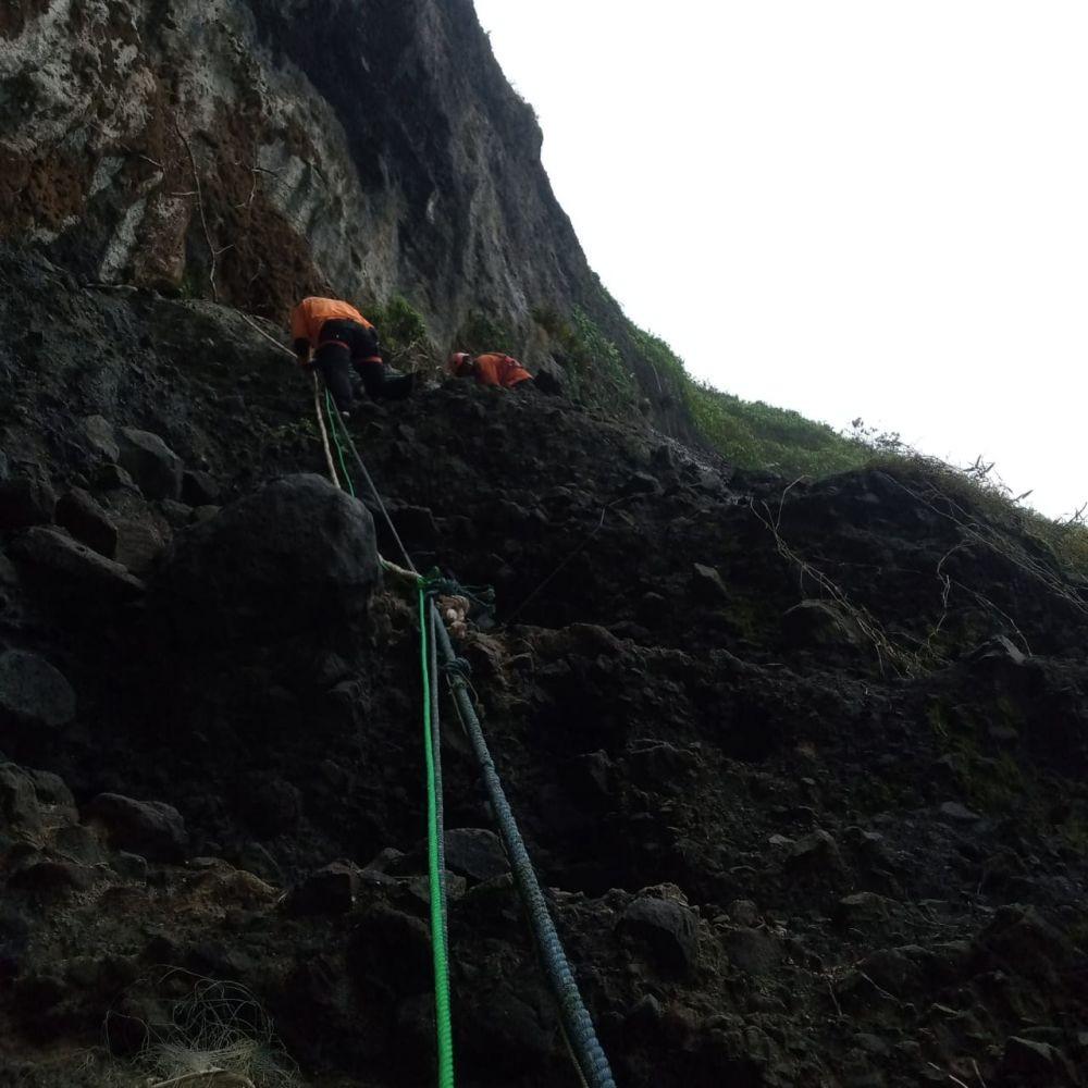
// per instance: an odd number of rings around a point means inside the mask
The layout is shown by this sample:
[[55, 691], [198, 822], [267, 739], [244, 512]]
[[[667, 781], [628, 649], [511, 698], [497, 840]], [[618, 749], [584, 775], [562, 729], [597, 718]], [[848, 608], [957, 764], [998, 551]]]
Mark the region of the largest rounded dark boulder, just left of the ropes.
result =
[[374, 522], [317, 475], [292, 475], [182, 533], [151, 584], [184, 642], [268, 643], [362, 617], [381, 577]]

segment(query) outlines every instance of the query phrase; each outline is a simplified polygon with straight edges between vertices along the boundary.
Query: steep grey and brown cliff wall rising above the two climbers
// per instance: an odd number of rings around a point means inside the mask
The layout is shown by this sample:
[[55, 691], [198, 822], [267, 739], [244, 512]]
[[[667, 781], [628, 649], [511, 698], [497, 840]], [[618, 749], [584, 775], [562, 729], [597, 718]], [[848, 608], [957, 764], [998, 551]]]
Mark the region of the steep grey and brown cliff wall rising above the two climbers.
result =
[[404, 295], [440, 349], [485, 314], [533, 363], [534, 313], [580, 307], [662, 400], [471, 0], [55, 0], [0, 33], [0, 236], [281, 320]]

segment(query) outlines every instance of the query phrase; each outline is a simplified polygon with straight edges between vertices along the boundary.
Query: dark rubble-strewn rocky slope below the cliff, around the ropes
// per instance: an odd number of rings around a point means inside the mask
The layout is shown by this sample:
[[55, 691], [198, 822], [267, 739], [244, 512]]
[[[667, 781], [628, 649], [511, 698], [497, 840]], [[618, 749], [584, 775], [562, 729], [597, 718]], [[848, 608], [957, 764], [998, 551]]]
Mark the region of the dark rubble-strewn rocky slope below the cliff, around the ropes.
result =
[[[393, 542], [232, 309], [33, 252], [0, 281], [3, 1079], [176, 1075], [213, 1048], [170, 1002], [212, 979], [274, 1024], [258, 1084], [426, 1083]], [[619, 1084], [1084, 1084], [1088, 588], [1042, 545], [560, 397], [351, 426], [417, 562], [496, 589], [462, 650]], [[460, 1080], [572, 1083], [445, 747]]]

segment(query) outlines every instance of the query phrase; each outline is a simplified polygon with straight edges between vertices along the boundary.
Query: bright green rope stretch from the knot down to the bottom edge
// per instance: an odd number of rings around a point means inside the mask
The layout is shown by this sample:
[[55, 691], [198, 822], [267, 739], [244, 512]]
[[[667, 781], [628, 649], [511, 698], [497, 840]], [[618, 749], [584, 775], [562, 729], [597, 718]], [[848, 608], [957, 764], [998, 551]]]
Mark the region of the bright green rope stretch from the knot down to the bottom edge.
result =
[[438, 784], [431, 721], [431, 652], [428, 647], [428, 597], [419, 583], [420, 660], [423, 668], [423, 751], [426, 755], [426, 855], [431, 886], [431, 947], [434, 953], [434, 1011], [438, 1036], [438, 1088], [454, 1086], [454, 1033], [449, 1019], [449, 963], [446, 956], [446, 918], [443, 895]]

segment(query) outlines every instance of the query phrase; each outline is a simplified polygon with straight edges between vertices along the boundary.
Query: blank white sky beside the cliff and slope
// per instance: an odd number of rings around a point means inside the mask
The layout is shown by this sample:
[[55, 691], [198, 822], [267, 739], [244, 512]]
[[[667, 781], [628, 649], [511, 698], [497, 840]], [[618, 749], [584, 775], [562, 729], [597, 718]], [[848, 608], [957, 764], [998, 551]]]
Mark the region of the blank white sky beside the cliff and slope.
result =
[[1088, 499], [1088, 3], [475, 4], [590, 263], [693, 374]]

